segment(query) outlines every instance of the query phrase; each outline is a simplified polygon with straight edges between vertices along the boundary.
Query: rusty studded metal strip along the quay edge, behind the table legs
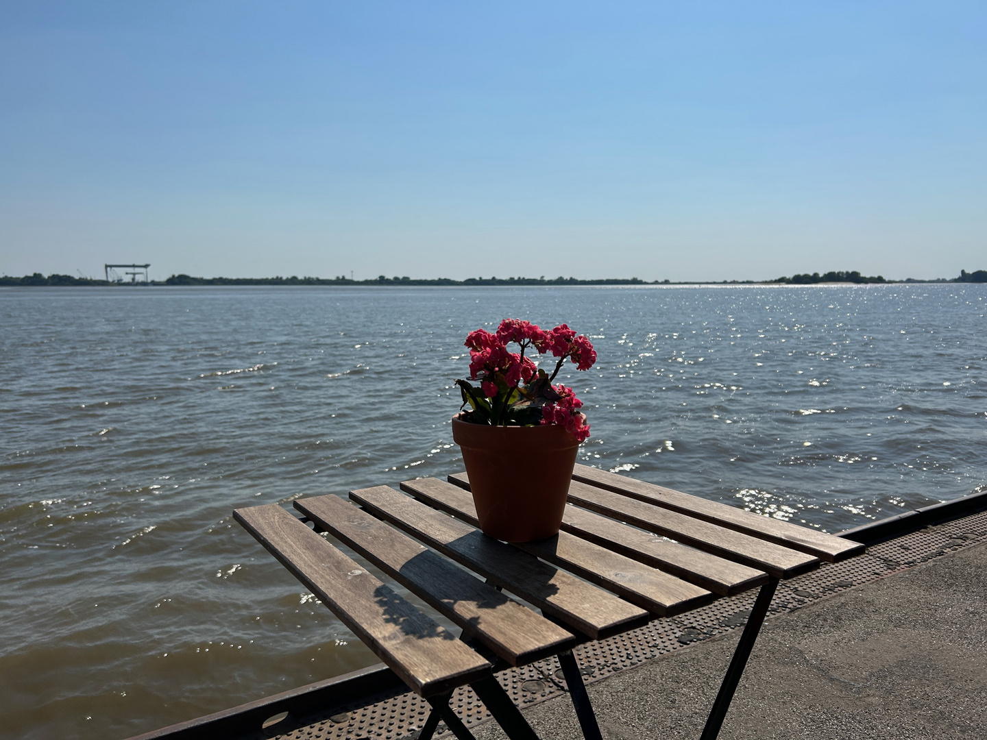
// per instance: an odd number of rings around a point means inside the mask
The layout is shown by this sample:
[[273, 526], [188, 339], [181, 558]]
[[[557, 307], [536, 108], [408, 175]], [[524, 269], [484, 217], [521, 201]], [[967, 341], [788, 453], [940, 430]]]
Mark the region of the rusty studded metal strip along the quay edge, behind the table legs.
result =
[[[823, 563], [817, 570], [782, 581], [772, 601], [771, 615], [795, 611], [806, 604], [848, 588], [877, 580], [899, 570], [941, 555], [987, 541], [987, 512], [925, 527], [893, 540], [873, 545], [865, 555], [839, 563]], [[724, 634], [746, 624], [757, 590], [721, 598], [708, 606], [679, 617], [658, 619], [643, 628], [608, 639], [586, 642], [573, 651], [584, 681], [593, 683], [686, 645]], [[497, 674], [504, 690], [522, 708], [544, 702], [566, 692], [566, 682], [556, 658], [512, 668]], [[491, 714], [469, 687], [457, 689], [450, 702], [468, 727], [491, 719]], [[409, 692], [369, 705], [334, 709], [332, 716], [304, 718], [308, 724], [289, 732], [267, 731], [244, 740], [349, 740], [381, 738], [399, 740], [418, 737], [418, 729], [429, 712], [428, 703]], [[436, 738], [452, 738], [439, 725]]]

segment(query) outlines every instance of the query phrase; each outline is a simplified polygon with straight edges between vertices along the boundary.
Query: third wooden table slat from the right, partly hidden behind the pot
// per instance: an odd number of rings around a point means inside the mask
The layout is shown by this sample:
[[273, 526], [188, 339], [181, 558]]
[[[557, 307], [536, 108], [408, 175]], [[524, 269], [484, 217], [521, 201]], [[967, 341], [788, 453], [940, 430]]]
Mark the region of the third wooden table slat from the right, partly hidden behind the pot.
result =
[[[449, 481], [469, 489], [470, 481], [465, 473], [449, 476]], [[402, 487], [405, 487], [404, 483]], [[432, 505], [446, 508], [437, 499], [432, 501]], [[452, 513], [450, 509], [446, 510]], [[681, 543], [669, 542], [578, 506], [566, 507], [562, 528], [572, 535], [664, 570], [721, 596], [733, 596], [768, 582], [768, 574], [763, 570], [704, 553]]]

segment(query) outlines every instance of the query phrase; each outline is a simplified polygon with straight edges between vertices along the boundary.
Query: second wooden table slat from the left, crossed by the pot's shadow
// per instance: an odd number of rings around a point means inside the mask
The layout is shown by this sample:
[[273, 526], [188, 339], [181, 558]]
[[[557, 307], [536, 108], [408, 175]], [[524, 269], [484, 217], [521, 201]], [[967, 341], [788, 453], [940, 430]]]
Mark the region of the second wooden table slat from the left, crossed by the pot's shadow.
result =
[[511, 665], [555, 655], [575, 642], [567, 630], [339, 496], [294, 504]]

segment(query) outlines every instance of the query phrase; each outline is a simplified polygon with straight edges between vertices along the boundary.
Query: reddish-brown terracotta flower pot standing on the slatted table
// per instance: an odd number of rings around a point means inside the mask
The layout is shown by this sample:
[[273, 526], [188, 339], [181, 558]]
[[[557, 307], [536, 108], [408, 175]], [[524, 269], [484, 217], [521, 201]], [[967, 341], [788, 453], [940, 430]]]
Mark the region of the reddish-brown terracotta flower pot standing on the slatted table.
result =
[[507, 542], [558, 534], [579, 447], [563, 426], [490, 426], [452, 418], [480, 528]]

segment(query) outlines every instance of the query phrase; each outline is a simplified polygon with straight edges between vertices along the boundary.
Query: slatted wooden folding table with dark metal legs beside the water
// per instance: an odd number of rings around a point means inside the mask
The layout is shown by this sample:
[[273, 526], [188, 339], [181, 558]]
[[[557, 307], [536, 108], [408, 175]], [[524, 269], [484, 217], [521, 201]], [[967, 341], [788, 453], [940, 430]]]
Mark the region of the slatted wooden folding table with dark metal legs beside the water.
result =
[[[703, 740], [726, 709], [779, 579], [864, 552], [863, 545], [789, 522], [577, 465], [558, 536], [508, 545], [480, 530], [465, 473], [294, 502], [302, 517], [268, 504], [237, 521], [433, 707], [472, 738], [449, 706], [469, 685], [513, 740], [537, 740], [493, 677], [558, 656], [586, 740], [601, 740], [572, 647], [759, 588]], [[450, 516], [451, 515], [451, 516]], [[306, 523], [312, 524], [314, 530]], [[321, 537], [327, 532], [462, 629], [438, 626], [393, 588]], [[480, 576], [480, 577], [477, 577]], [[521, 604], [508, 594], [537, 608]]]

